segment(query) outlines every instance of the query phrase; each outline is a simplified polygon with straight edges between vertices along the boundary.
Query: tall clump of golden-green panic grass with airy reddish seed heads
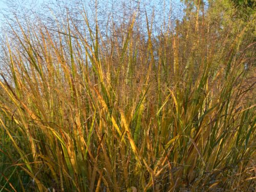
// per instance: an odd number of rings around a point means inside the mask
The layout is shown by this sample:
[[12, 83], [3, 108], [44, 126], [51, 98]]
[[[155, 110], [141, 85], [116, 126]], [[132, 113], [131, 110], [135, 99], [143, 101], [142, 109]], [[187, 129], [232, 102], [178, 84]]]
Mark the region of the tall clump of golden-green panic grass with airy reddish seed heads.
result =
[[105, 29], [82, 6], [10, 24], [0, 191], [252, 191], [255, 19], [219, 3], [160, 30], [140, 4]]

